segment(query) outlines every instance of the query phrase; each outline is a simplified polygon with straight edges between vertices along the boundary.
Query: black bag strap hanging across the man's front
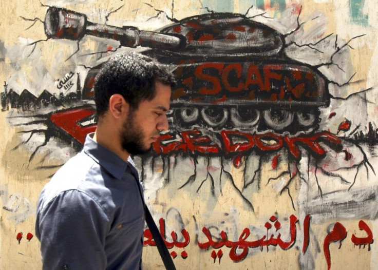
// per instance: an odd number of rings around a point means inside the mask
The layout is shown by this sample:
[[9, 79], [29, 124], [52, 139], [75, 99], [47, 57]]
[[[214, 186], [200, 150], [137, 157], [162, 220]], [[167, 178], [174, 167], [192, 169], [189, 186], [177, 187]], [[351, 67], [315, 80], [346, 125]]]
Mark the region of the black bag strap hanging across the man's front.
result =
[[138, 188], [139, 188], [139, 194], [142, 197], [142, 202], [144, 204], [144, 217], [146, 219], [146, 223], [147, 223], [147, 226], [149, 228], [149, 231], [151, 232], [152, 236], [154, 237], [156, 247], [158, 248], [160, 257], [163, 260], [165, 269], [176, 270], [176, 267], [175, 267], [175, 264], [173, 263], [171, 254], [169, 254], [168, 248], [165, 245], [164, 240], [160, 235], [158, 226], [156, 226], [156, 223], [155, 223], [147, 205], [144, 202], [143, 192], [140, 188], [138, 171], [136, 170], [136, 168], [134, 166], [129, 165], [129, 167], [131, 168], [131, 172], [133, 173], [135, 180], [137, 180], [137, 185], [138, 185]]

